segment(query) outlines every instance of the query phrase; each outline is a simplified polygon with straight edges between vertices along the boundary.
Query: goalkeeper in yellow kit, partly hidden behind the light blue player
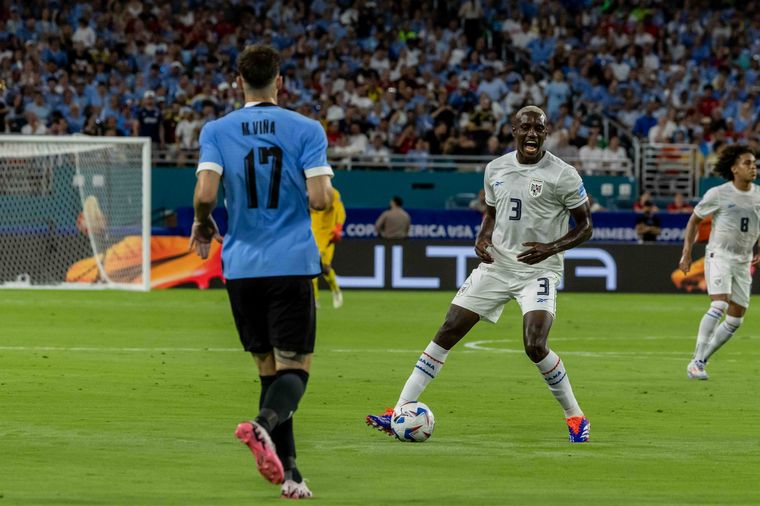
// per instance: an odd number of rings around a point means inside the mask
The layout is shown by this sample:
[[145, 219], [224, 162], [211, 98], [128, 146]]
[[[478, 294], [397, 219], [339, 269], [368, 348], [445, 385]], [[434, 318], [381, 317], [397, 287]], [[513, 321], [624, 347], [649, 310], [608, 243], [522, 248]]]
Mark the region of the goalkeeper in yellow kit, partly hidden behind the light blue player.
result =
[[[346, 208], [343, 207], [343, 201], [337, 189], [333, 189], [332, 206], [324, 211], [315, 211], [311, 209], [311, 230], [314, 232], [314, 239], [317, 241], [319, 256], [322, 260], [322, 276], [330, 286], [333, 295], [333, 307], [339, 308], [343, 305], [343, 294], [338, 286], [338, 280], [335, 277], [335, 270], [332, 268], [332, 257], [335, 254], [335, 244], [340, 242], [343, 237], [343, 223], [346, 221]], [[319, 305], [319, 277], [314, 278], [314, 299]]]

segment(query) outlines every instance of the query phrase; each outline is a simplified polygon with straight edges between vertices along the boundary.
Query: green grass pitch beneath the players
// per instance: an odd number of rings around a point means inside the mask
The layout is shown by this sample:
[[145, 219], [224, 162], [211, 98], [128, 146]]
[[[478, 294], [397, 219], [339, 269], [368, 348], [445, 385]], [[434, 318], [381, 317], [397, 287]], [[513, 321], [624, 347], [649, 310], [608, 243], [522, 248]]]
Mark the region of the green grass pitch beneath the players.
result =
[[[296, 416], [316, 504], [760, 504], [753, 308], [697, 382], [685, 368], [706, 296], [560, 294], [549, 342], [589, 444], [567, 442], [514, 303], [428, 388], [428, 442], [369, 429], [451, 295], [349, 291], [333, 310], [322, 293]], [[224, 291], [0, 291], [0, 315], [0, 506], [281, 503], [233, 436], [259, 387]]]

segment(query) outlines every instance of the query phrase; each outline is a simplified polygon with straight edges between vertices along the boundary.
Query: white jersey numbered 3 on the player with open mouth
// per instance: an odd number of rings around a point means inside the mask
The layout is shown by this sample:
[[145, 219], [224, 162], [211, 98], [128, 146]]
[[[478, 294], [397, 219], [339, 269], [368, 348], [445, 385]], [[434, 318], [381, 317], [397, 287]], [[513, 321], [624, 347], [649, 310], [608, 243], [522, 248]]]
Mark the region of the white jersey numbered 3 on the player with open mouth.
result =
[[541, 161], [524, 165], [513, 151], [486, 166], [486, 204], [496, 208], [494, 265], [512, 271], [529, 269], [562, 273], [564, 254], [528, 265], [517, 255], [524, 242], [549, 243], [567, 233], [569, 210], [588, 200], [578, 171], [546, 151]]

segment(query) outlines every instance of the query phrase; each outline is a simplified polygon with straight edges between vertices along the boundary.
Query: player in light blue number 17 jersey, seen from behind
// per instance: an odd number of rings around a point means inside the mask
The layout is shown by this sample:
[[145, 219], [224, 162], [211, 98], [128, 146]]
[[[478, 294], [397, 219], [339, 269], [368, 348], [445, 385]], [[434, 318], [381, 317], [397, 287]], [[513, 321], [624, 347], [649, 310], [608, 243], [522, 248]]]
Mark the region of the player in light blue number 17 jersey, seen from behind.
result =
[[280, 55], [247, 47], [237, 59], [245, 107], [206, 124], [200, 136], [195, 222], [190, 240], [201, 257], [221, 240], [211, 218], [220, 181], [229, 228], [222, 262], [243, 348], [261, 378], [259, 412], [235, 435], [259, 472], [284, 497], [310, 497], [295, 461], [293, 413], [309, 379], [316, 313], [312, 278], [321, 273], [309, 207], [332, 203], [322, 126], [278, 107]]

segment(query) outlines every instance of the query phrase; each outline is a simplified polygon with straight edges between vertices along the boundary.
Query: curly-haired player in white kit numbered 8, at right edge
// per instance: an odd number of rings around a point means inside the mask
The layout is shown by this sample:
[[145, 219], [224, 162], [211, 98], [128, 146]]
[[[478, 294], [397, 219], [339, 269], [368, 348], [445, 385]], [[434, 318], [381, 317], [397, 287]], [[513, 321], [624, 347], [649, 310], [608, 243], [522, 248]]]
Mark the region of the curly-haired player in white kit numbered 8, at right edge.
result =
[[697, 346], [686, 367], [689, 378], [701, 380], [708, 378], [707, 360], [741, 326], [752, 288], [750, 265], [760, 263], [760, 255], [753, 256], [760, 236], [760, 188], [753, 183], [757, 177], [755, 154], [747, 146], [728, 146], [721, 151], [715, 171], [728, 182], [708, 190], [694, 208], [678, 262], [678, 267], [688, 273], [699, 224], [712, 215], [705, 253], [710, 308], [699, 323]]

